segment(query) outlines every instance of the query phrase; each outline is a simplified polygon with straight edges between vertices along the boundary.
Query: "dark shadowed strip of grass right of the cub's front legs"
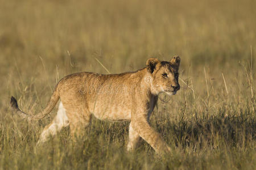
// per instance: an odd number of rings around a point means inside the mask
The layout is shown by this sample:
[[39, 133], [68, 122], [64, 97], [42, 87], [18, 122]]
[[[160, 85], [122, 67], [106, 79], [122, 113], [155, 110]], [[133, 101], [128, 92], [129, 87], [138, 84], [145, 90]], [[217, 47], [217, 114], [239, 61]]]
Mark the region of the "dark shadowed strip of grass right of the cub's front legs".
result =
[[[168, 119], [170, 120], [170, 119]], [[256, 119], [251, 114], [240, 116], [209, 116], [193, 120], [167, 121], [155, 124], [168, 143], [182, 148], [246, 147], [256, 141]]]

